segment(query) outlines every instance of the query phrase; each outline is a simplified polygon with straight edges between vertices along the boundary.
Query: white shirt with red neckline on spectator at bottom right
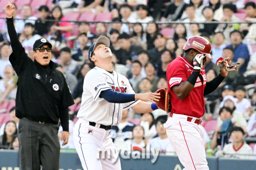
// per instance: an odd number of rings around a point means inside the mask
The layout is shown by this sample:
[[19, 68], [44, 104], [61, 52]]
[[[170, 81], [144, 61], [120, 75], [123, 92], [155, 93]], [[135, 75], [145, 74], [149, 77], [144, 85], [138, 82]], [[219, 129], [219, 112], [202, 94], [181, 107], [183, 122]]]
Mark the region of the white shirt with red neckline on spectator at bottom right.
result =
[[[240, 158], [240, 159], [253, 158], [252, 156], [249, 156], [250, 154], [252, 154], [252, 148], [246, 143], [243, 143], [241, 147], [238, 148], [237, 150], [234, 149], [233, 143], [229, 143], [224, 146], [223, 152], [224, 154], [227, 154], [225, 155], [225, 157]], [[247, 155], [243, 155], [243, 154], [247, 154]]]

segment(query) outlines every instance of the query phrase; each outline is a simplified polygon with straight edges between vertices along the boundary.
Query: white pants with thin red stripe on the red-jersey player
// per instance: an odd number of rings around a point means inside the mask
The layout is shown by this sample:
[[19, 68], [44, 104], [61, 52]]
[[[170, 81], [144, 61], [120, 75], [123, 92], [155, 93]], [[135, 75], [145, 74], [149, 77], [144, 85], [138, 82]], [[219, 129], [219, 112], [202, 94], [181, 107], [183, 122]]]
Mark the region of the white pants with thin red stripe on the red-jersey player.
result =
[[173, 114], [169, 117], [164, 127], [172, 147], [180, 162], [185, 167], [183, 170], [209, 170], [204, 149], [204, 133], [196, 124], [187, 121], [186, 115]]

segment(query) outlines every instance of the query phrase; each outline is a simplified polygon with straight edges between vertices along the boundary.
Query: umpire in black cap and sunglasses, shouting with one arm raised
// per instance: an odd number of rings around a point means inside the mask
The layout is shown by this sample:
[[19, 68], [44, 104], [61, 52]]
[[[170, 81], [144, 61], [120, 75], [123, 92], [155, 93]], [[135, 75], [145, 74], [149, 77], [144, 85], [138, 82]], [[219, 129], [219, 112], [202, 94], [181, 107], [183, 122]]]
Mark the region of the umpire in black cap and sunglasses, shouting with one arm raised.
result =
[[58, 121], [63, 127], [62, 145], [68, 143], [68, 107], [74, 104], [63, 74], [51, 59], [52, 45], [44, 38], [33, 45], [34, 62], [25, 53], [14, 27], [15, 6], [5, 8], [12, 45], [9, 57], [18, 75], [16, 117], [22, 170], [58, 170], [60, 142]]

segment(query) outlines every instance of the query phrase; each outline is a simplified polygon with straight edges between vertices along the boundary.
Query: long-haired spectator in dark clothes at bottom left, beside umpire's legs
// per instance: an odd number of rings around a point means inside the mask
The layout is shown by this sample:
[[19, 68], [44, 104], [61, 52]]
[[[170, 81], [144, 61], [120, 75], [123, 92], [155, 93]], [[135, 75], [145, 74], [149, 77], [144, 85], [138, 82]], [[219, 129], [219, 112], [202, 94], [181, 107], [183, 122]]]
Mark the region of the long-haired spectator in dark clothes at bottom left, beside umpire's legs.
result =
[[17, 127], [14, 121], [8, 121], [4, 127], [4, 134], [0, 136], [0, 148], [1, 149], [11, 149], [12, 142], [17, 135]]

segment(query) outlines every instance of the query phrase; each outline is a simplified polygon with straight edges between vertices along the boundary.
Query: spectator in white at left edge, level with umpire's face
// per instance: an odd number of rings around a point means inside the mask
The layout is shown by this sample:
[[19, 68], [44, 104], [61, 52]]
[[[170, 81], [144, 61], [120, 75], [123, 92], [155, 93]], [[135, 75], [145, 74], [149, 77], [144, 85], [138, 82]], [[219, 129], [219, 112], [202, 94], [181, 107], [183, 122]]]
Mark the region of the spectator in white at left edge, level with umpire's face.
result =
[[8, 44], [3, 44], [0, 48], [0, 55], [1, 55], [1, 60], [0, 60], [0, 77], [4, 78], [4, 68], [7, 65], [11, 65], [9, 61], [9, 56], [12, 53], [12, 49], [10, 45]]

